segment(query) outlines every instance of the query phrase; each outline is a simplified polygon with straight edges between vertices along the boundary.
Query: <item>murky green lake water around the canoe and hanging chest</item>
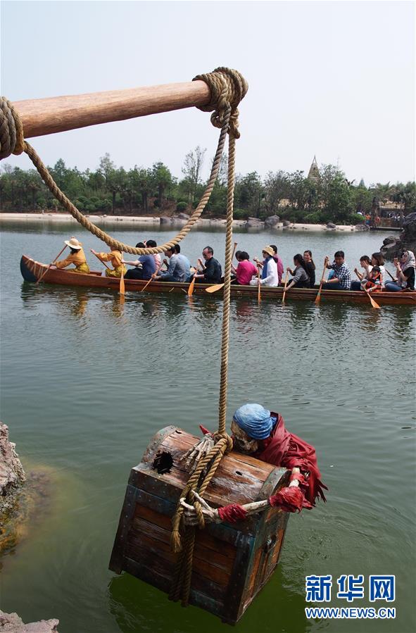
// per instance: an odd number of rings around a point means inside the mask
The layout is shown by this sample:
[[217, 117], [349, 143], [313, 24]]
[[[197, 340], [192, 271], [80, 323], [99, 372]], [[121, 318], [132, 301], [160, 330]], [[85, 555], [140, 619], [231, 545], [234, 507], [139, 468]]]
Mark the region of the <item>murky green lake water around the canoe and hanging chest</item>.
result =
[[[111, 233], [130, 244], [172, 232]], [[108, 571], [130, 468], [152, 435], [174, 424], [198, 434], [218, 419], [222, 303], [215, 296], [127, 294], [23, 282], [20, 256], [49, 262], [77, 226], [3, 224], [1, 420], [26, 470], [51, 472], [49, 503], [29, 536], [3, 558], [0, 608], [25, 622], [58, 618], [60, 633], [199, 633], [225, 625], [127, 574]], [[235, 234], [260, 256], [275, 243], [284, 264], [311, 249], [351, 269], [383, 233]], [[182, 243], [196, 261], [224, 232]], [[93, 268], [100, 264], [89, 258]], [[390, 265], [390, 270], [393, 270]], [[257, 401], [317, 450], [327, 503], [292, 515], [279, 568], [238, 633], [410, 633], [415, 620], [415, 320], [408, 306], [233, 299], [228, 419]], [[305, 576], [332, 575], [331, 606], [396, 607], [396, 620], [306, 620]], [[364, 575], [365, 598], [336, 598], [336, 579]], [[369, 575], [396, 575], [396, 601], [370, 604]]]

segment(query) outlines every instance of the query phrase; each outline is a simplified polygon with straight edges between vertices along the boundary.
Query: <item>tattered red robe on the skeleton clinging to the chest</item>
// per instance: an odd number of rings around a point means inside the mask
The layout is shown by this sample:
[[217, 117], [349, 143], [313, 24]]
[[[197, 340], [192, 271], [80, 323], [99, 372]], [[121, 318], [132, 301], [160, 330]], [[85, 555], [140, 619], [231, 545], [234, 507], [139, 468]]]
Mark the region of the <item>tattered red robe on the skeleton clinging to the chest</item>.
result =
[[280, 413], [270, 413], [277, 419], [275, 428], [266, 439], [258, 440], [262, 448], [253, 457], [263, 460], [274, 466], [284, 468], [300, 468], [303, 475], [309, 472], [308, 487], [303, 489], [305, 498], [315, 506], [315, 499], [326, 501], [324, 489], [327, 487], [321, 481], [321, 474], [317, 467], [315, 449], [303, 439], [286, 431], [284, 420]]

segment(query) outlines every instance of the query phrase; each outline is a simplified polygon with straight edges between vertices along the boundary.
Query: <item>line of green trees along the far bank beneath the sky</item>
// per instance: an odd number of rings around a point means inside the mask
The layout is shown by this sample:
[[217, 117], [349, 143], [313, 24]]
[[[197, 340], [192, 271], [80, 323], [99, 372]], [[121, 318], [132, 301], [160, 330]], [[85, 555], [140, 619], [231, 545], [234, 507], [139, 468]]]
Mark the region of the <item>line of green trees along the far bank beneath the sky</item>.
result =
[[[159, 215], [190, 212], [206, 182], [201, 172], [206, 150], [196, 147], [185, 156], [182, 177], [176, 178], [163, 163], [130, 170], [116, 167], [108, 153], [95, 171], [67, 168], [60, 158], [49, 171], [58, 187], [83, 213], [114, 215]], [[206, 207], [209, 215], [225, 215], [227, 201], [227, 157], [222, 159], [218, 181]], [[320, 177], [310, 180], [303, 171], [257, 172], [237, 175], [235, 218], [264, 219], [279, 215], [292, 222], [355, 223], [370, 213], [374, 203], [398, 202], [405, 213], [416, 211], [416, 184], [355, 185], [334, 165], [321, 165]], [[1, 211], [63, 211], [34, 169], [4, 165], [0, 175]]]

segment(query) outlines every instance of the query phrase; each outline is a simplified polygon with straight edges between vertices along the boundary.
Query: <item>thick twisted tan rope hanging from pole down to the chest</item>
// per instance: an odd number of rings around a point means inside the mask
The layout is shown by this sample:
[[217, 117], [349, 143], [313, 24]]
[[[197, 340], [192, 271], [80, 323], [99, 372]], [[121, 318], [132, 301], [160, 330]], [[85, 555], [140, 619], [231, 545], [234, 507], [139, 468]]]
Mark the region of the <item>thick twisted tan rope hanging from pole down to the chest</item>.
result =
[[[228, 351], [229, 351], [229, 304], [231, 293], [231, 264], [232, 264], [232, 221], [234, 206], [234, 181], [235, 181], [235, 140], [240, 137], [239, 133], [239, 111], [237, 106], [241, 99], [246, 95], [248, 84], [244, 77], [237, 71], [230, 68], [216, 68], [213, 73], [206, 75], [197, 75], [194, 81], [202, 80], [208, 84], [210, 88], [211, 101], [207, 106], [201, 106], [202, 111], [212, 112], [211, 123], [215, 127], [221, 129], [220, 139], [218, 141], [217, 151], [213, 161], [210, 178], [205, 192], [196, 207], [191, 218], [182, 230], [170, 241], [162, 246], [156, 246], [149, 249], [137, 249], [129, 244], [124, 244], [108, 235], [103, 230], [94, 225], [86, 218], [73, 203], [61, 192], [56, 182], [53, 181], [49, 171], [44, 163], [37, 155], [36, 151], [25, 142], [23, 137], [23, 125], [20, 121], [18, 112], [13, 108], [13, 104], [4, 97], [0, 98], [0, 159], [10, 156], [11, 153], [20, 154], [23, 151], [30, 157], [32, 163], [37, 168], [42, 180], [49, 188], [53, 196], [61, 202], [65, 209], [73, 215], [82, 226], [88, 229], [92, 234], [101, 239], [111, 248], [116, 248], [131, 254], [144, 255], [153, 253], [162, 253], [166, 249], [181, 242], [189, 233], [191, 227], [194, 226], [196, 220], [201, 216], [203, 209], [210, 198], [215, 180], [220, 168], [220, 161], [225, 145], [225, 137], [229, 135], [229, 153], [228, 153], [228, 187], [227, 187], [227, 220], [226, 220], [226, 237], [225, 237], [225, 284], [223, 291], [223, 312], [222, 312], [222, 341], [221, 341], [221, 370], [220, 370], [220, 397], [218, 404], [218, 432], [215, 434], [215, 445], [209, 453], [198, 462], [198, 466], [194, 473], [189, 477], [186, 487], [180, 494], [180, 498], [184, 498], [187, 503], [194, 505], [196, 515], [198, 517], [198, 527], [203, 529], [205, 522], [201, 503], [195, 498], [194, 491], [203, 496], [208, 484], [215, 475], [218, 464], [225, 453], [232, 450], [232, 439], [226, 431], [226, 413], [227, 413], [227, 379], [228, 379]], [[171, 600], [182, 599], [182, 605], [187, 606], [189, 602], [189, 591], [191, 587], [192, 560], [194, 553], [194, 544], [196, 536], [196, 527], [184, 526], [183, 521], [184, 508], [178, 501], [175, 514], [172, 517], [172, 534], [171, 545], [172, 550], [177, 556], [175, 565], [175, 575], [170, 591]], [[184, 532], [182, 538], [181, 532]], [[183, 541], [183, 543], [182, 543]]]

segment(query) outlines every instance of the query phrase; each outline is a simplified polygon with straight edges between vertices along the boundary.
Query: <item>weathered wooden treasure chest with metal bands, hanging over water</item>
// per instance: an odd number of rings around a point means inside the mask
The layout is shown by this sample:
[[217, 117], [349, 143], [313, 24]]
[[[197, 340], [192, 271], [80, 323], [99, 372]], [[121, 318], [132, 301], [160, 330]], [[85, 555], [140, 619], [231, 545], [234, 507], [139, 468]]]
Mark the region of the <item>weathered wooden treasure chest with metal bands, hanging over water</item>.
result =
[[[169, 592], [177, 555], [170, 549], [171, 517], [189, 472], [179, 459], [198, 437], [174, 426], [159, 431], [132, 468], [110, 569]], [[204, 499], [215, 508], [267, 499], [289, 484], [290, 472], [241, 453], [222, 458]], [[277, 508], [244, 521], [196, 530], [189, 603], [234, 624], [279, 561], [289, 513]]]

